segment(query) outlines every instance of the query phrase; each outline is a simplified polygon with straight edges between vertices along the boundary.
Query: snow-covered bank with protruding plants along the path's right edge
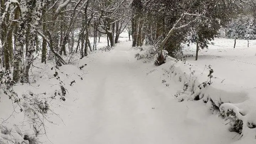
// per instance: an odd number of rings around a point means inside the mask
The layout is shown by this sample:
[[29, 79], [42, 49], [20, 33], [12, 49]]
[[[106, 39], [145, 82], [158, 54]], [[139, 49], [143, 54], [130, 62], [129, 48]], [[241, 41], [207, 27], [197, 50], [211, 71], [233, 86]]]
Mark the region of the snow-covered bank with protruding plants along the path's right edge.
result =
[[[143, 47], [138, 59], [153, 62], [152, 48]], [[150, 58], [149, 58], [150, 57]], [[153, 60], [152, 60], [153, 58]], [[178, 101], [202, 101], [212, 113], [219, 114], [230, 125], [230, 131], [238, 132], [241, 142], [256, 137], [256, 99], [255, 90], [242, 89], [234, 84], [224, 84], [223, 79], [214, 75], [214, 68], [202, 69], [167, 56], [166, 63], [159, 66], [164, 73], [162, 83], [170, 86], [170, 81], [180, 85], [175, 97]], [[213, 73], [210, 73], [213, 70]], [[244, 141], [245, 140], [245, 141]], [[254, 140], [255, 142], [255, 140]]]

